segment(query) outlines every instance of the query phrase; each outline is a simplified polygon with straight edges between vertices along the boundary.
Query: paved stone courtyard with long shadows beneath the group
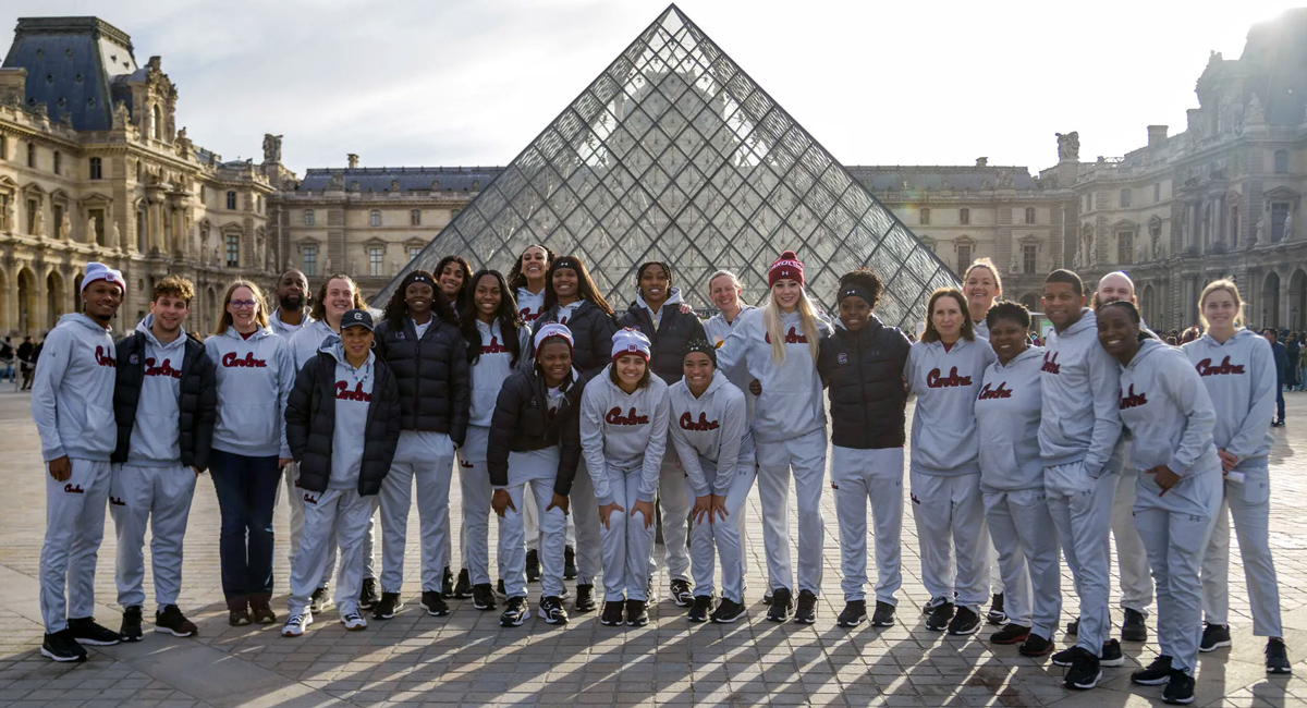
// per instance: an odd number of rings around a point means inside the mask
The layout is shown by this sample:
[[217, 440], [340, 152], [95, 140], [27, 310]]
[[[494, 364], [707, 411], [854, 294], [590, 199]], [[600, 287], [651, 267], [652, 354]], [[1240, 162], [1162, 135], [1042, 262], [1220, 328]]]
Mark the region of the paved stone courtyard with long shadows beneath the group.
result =
[[[1281, 601], [1297, 675], [1268, 678], [1263, 641], [1252, 637], [1238, 547], [1231, 550], [1231, 622], [1235, 645], [1201, 658], [1199, 705], [1307, 705], [1307, 393], [1289, 398], [1289, 427], [1276, 430], [1272, 542]], [[750, 618], [733, 626], [691, 624], [664, 600], [643, 628], [612, 628], [597, 613], [574, 615], [563, 628], [532, 618], [501, 630], [498, 613], [452, 601], [446, 618], [416, 610], [417, 549], [406, 564], [408, 610], [365, 632], [346, 632], [335, 610], [301, 639], [277, 627], [229, 627], [218, 576], [218, 511], [208, 475], [191, 512], [180, 606], [200, 626], [192, 639], [150, 632], [140, 644], [91, 648], [80, 665], [41, 657], [37, 567], [44, 526], [39, 444], [27, 394], [0, 393], [0, 705], [190, 707], [190, 705], [1146, 705], [1157, 688], [1132, 688], [1129, 671], [1155, 654], [1155, 645], [1127, 644], [1127, 665], [1104, 669], [1104, 683], [1086, 694], [1060, 686], [1063, 669], [1047, 660], [991, 647], [985, 630], [972, 637], [928, 632], [918, 607], [927, 600], [919, 576], [911, 517], [903, 533], [899, 624], [855, 631], [834, 626], [839, 593], [838, 536], [826, 498], [825, 594], [814, 626], [767, 622], [762, 533], [757, 498], [750, 506]], [[457, 494], [455, 485], [455, 494]], [[457, 509], [457, 504], [452, 504]], [[277, 517], [274, 609], [285, 610], [286, 508]], [[455, 511], [455, 513], [457, 513]], [[409, 538], [417, 538], [414, 530]], [[457, 528], [457, 519], [455, 528]], [[491, 529], [494, 525], [491, 524]], [[494, 539], [491, 539], [491, 543]], [[148, 553], [148, 550], [146, 550]], [[379, 553], [379, 550], [378, 550]], [[97, 575], [97, 618], [116, 628], [112, 523]], [[148, 567], [148, 563], [146, 563]], [[1115, 568], [1114, 568], [1115, 575]], [[153, 601], [149, 570], [146, 596]], [[665, 575], [657, 580], [667, 587]], [[1115, 587], [1115, 583], [1114, 583]], [[1064, 618], [1076, 611], [1064, 571]], [[538, 585], [532, 585], [532, 606]], [[1115, 607], [1115, 601], [1114, 601]], [[146, 606], [146, 615], [153, 606]], [[1120, 622], [1119, 613], [1114, 619]], [[1153, 628], [1150, 619], [1150, 630]], [[1064, 637], [1059, 637], [1060, 641]]]

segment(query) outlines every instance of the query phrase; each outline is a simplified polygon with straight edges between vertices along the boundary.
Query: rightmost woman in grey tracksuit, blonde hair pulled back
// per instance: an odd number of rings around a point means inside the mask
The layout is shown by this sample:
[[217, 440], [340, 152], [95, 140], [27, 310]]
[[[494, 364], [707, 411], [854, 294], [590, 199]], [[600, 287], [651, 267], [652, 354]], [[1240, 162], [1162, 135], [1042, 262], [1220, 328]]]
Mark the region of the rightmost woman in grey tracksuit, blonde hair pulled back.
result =
[[1217, 410], [1212, 436], [1225, 475], [1221, 508], [1202, 560], [1206, 626], [1199, 651], [1229, 647], [1230, 516], [1239, 534], [1252, 634], [1265, 636], [1266, 673], [1291, 673], [1280, 620], [1280, 584], [1270, 555], [1270, 475], [1274, 438], [1276, 363], [1266, 340], [1243, 327], [1243, 300], [1233, 281], [1208, 283], [1199, 298], [1202, 336], [1182, 349], [1193, 363]]

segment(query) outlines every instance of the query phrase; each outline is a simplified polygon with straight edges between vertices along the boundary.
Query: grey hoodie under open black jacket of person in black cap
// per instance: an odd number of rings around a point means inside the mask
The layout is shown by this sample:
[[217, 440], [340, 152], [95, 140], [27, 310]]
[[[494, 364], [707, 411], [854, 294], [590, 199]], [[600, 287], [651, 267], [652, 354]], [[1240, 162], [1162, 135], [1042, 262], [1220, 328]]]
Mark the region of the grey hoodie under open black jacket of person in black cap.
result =
[[367, 353], [362, 367], [354, 368], [345, 359], [345, 346], [339, 338], [331, 340], [319, 351], [336, 359], [336, 426], [332, 428], [331, 478], [327, 489], [358, 489], [358, 474], [363, 466], [363, 442], [367, 431], [367, 409], [372, 401], [372, 367], [376, 355]]

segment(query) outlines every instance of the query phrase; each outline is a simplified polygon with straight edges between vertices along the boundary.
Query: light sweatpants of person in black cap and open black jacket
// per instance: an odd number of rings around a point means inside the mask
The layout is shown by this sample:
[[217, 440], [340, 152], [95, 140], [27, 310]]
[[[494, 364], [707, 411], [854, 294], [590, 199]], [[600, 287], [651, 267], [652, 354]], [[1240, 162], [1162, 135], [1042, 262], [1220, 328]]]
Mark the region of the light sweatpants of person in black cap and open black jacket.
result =
[[[376, 496], [359, 496], [357, 490], [299, 490], [305, 503], [305, 537], [290, 567], [290, 600], [286, 609], [297, 615], [305, 611], [323, 573], [328, 572], [327, 555], [340, 547], [336, 572], [336, 607], [341, 617], [358, 611], [358, 592], [363, 584], [363, 538], [376, 511]], [[335, 538], [333, 538], [335, 536]]]

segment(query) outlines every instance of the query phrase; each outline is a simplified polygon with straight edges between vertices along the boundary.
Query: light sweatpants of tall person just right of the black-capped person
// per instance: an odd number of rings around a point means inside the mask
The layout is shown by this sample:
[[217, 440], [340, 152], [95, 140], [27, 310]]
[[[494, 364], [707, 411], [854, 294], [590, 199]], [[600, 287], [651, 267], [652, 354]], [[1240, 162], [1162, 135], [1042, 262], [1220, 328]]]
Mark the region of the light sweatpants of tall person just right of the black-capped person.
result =
[[454, 443], [443, 432], [405, 430], [395, 449], [391, 472], [382, 482], [382, 592], [404, 588], [404, 546], [408, 515], [417, 481], [417, 513], [421, 528], [422, 592], [440, 592], [448, 564], [450, 482], [454, 474]]

